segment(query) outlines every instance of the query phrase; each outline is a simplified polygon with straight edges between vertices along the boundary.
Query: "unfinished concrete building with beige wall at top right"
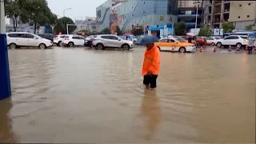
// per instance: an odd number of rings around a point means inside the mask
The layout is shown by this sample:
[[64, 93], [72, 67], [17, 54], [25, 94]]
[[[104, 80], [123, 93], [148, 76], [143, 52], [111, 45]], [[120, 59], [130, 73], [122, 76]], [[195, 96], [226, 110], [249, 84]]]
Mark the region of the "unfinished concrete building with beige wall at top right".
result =
[[221, 28], [222, 22], [234, 22], [235, 29], [255, 23], [255, 1], [206, 0], [203, 3], [204, 22]]

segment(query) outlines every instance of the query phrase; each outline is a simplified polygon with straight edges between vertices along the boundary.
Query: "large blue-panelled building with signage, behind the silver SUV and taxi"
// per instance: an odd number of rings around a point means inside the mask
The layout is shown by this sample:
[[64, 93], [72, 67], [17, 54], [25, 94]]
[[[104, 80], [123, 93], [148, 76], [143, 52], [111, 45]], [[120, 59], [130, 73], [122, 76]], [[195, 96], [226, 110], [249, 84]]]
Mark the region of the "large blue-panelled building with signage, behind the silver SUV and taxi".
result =
[[[110, 12], [99, 12], [99, 7], [104, 7], [101, 10]], [[157, 26], [178, 22], [178, 0], [129, 0], [116, 6], [111, 6], [110, 2], [105, 2], [99, 7], [97, 9], [98, 17], [100, 20], [104, 19], [104, 21], [99, 22], [99, 26], [101, 28], [109, 27], [113, 20], [110, 14], [114, 11], [117, 14], [114, 20], [117, 21], [122, 32], [131, 30], [132, 26]]]

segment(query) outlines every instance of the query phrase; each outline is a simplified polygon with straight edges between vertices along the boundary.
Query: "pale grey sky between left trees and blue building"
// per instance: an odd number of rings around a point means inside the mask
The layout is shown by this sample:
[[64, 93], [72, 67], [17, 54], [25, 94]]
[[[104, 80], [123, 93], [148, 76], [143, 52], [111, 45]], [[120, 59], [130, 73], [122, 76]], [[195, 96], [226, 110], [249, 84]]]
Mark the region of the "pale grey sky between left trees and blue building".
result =
[[63, 10], [66, 10], [65, 16], [72, 19], [82, 19], [86, 16], [95, 17], [96, 7], [100, 6], [106, 0], [47, 0], [50, 10], [59, 17], [63, 16]]

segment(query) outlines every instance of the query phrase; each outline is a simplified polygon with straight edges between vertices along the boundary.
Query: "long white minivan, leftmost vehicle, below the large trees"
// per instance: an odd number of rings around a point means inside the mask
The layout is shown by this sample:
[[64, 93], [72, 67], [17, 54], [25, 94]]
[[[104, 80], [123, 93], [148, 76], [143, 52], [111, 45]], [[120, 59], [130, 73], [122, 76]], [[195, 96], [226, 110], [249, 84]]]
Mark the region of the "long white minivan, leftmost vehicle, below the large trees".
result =
[[18, 46], [39, 47], [41, 49], [53, 46], [53, 42], [50, 40], [26, 32], [7, 33], [6, 38], [7, 45], [10, 46], [11, 49], [15, 49]]

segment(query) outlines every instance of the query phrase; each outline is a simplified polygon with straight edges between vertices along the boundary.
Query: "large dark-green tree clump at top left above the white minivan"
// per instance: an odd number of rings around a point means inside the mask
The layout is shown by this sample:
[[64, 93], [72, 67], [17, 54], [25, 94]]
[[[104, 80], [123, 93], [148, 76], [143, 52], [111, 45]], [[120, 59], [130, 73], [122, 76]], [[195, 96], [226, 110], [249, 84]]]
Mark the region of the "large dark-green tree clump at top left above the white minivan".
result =
[[38, 26], [54, 26], [57, 20], [46, 0], [5, 0], [5, 11], [6, 16], [13, 20], [15, 31], [18, 18], [23, 23], [32, 23], [34, 33]]

